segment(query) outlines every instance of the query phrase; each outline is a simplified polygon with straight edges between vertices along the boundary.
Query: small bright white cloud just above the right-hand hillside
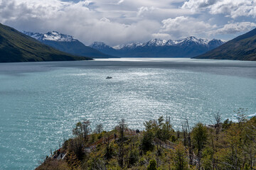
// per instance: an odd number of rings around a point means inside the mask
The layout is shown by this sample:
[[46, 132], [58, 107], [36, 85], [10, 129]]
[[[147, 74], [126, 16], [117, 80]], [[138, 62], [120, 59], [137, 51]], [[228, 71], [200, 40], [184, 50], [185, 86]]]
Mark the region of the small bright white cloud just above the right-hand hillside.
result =
[[241, 22], [241, 23], [228, 23], [223, 28], [213, 30], [211, 34], [235, 34], [247, 32], [256, 27], [256, 23]]

